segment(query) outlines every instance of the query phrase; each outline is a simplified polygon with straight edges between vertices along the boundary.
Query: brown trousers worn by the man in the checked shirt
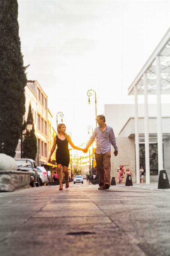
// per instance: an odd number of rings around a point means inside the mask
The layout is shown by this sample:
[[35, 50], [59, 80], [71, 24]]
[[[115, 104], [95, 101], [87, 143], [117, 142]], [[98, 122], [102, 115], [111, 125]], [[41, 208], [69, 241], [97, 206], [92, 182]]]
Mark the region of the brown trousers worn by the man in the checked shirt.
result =
[[110, 151], [105, 154], [95, 153], [97, 170], [99, 174], [99, 187], [105, 187], [105, 183], [108, 183], [110, 186], [110, 157]]

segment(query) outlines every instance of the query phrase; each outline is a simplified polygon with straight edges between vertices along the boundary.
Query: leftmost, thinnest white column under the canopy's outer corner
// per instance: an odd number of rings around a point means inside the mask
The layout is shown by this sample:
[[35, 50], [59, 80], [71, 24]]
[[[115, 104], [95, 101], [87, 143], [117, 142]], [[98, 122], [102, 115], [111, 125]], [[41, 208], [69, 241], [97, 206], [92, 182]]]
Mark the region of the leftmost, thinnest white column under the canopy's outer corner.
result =
[[134, 86], [135, 91], [135, 153], [136, 153], [136, 183], [140, 183], [140, 163], [139, 163], [139, 130], [138, 130], [138, 99], [137, 99], [137, 85]]

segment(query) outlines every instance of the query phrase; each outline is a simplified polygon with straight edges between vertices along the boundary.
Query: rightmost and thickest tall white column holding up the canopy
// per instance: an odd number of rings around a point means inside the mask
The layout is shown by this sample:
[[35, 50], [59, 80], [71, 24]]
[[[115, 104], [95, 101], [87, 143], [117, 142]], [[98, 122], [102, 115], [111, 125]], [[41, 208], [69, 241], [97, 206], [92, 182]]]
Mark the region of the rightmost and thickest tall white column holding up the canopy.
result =
[[157, 105], [157, 137], [158, 137], [158, 171], [160, 171], [163, 169], [160, 56], [156, 56], [156, 96], [157, 96], [156, 105]]

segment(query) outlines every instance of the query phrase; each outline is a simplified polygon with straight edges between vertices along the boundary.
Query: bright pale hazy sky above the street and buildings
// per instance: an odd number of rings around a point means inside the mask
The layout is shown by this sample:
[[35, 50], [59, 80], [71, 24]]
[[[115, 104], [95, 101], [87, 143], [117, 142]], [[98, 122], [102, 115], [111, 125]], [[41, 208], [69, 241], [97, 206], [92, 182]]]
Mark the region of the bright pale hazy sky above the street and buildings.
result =
[[[88, 90], [96, 91], [97, 115], [104, 114], [105, 104], [134, 103], [128, 87], [170, 27], [170, 1], [18, 0], [18, 5], [27, 79], [37, 80], [48, 96], [54, 128], [61, 111], [79, 146], [89, 138], [87, 127], [96, 125]], [[156, 97], [149, 96], [148, 103]]]

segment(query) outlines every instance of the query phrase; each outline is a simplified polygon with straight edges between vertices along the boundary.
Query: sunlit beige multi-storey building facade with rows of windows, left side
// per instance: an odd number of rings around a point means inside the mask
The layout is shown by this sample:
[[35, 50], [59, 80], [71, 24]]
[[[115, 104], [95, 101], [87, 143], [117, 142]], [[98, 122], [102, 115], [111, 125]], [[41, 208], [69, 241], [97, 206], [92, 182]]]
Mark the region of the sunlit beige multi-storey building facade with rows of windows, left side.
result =
[[[52, 116], [48, 110], [48, 97], [41, 88], [38, 81], [27, 81], [25, 87], [26, 112], [23, 121], [27, 120], [29, 104], [32, 106], [33, 121], [35, 126], [35, 135], [37, 137], [38, 154], [36, 157], [37, 166], [55, 166], [48, 163], [49, 147], [53, 141], [54, 129], [51, 128]], [[50, 117], [49, 117], [50, 116]], [[50, 126], [50, 128], [49, 128]], [[50, 143], [50, 145], [49, 145]], [[53, 155], [54, 156], [54, 155]], [[21, 157], [21, 141], [19, 140], [15, 158]]]

